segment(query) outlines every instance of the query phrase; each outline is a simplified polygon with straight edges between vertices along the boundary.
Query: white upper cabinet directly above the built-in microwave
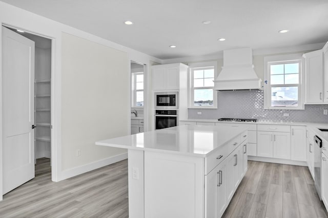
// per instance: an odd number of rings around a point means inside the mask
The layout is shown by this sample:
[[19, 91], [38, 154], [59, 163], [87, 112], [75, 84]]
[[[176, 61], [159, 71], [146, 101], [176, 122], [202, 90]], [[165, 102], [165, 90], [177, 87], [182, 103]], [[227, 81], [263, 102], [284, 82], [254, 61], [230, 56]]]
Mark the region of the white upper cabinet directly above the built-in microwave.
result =
[[166, 91], [178, 90], [181, 86], [185, 88], [187, 86], [187, 69], [188, 66], [182, 63], [153, 65], [152, 89]]

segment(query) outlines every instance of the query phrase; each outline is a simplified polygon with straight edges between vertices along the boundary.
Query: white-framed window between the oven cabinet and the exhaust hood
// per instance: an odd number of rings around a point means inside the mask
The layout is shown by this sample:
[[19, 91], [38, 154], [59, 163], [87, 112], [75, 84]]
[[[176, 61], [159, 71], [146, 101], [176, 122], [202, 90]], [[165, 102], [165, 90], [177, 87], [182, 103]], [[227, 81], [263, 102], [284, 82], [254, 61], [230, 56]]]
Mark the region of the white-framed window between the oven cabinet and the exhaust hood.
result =
[[214, 82], [216, 62], [195, 63], [190, 66], [190, 107], [216, 108]]

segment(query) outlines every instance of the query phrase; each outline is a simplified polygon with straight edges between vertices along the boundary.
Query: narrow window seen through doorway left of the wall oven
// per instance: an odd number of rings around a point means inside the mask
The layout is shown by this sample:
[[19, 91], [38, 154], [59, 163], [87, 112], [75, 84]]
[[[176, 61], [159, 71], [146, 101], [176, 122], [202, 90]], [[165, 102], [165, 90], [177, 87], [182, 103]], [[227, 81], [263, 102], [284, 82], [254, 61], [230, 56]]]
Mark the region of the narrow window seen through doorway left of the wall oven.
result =
[[132, 77], [133, 107], [144, 107], [144, 73], [134, 72]]

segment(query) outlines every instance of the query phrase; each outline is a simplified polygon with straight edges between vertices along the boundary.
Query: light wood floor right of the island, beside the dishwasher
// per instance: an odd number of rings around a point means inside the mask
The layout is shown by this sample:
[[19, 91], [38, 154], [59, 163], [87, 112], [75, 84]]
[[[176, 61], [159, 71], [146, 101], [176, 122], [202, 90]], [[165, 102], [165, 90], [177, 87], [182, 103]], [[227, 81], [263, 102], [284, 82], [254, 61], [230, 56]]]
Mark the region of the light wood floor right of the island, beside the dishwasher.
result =
[[308, 167], [248, 161], [222, 217], [328, 217]]

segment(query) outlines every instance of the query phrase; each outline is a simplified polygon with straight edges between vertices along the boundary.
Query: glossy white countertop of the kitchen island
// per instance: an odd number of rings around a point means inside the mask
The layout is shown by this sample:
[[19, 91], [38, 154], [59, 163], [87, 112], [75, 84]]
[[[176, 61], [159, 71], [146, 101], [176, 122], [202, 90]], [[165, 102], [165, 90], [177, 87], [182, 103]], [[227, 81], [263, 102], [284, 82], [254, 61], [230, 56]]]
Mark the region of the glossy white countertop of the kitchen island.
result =
[[95, 144], [123, 149], [207, 157], [214, 150], [246, 130], [247, 128], [244, 127], [181, 125], [101, 140]]

